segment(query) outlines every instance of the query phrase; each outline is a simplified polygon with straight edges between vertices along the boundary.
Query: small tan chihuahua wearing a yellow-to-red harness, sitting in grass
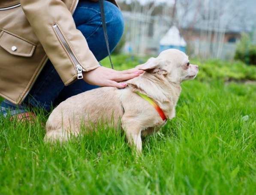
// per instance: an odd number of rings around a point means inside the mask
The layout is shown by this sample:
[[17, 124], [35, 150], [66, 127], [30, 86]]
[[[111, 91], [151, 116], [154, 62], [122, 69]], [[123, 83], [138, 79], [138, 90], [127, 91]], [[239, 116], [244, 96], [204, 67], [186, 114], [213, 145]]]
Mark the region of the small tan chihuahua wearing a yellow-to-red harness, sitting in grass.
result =
[[81, 125], [96, 124], [99, 119], [121, 119], [130, 145], [142, 151], [141, 134], [150, 134], [175, 117], [175, 106], [181, 93], [181, 82], [194, 79], [198, 66], [177, 49], [167, 49], [157, 58], [139, 66], [145, 72], [126, 81], [125, 89], [101, 87], [61, 102], [46, 123], [45, 140], [68, 140], [77, 135]]

